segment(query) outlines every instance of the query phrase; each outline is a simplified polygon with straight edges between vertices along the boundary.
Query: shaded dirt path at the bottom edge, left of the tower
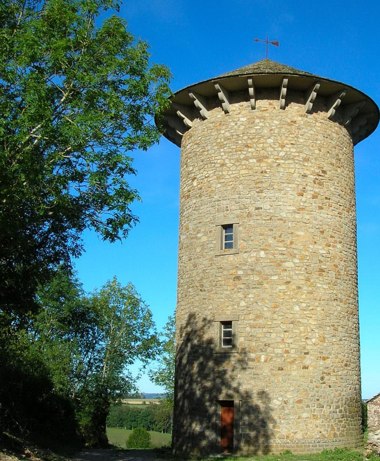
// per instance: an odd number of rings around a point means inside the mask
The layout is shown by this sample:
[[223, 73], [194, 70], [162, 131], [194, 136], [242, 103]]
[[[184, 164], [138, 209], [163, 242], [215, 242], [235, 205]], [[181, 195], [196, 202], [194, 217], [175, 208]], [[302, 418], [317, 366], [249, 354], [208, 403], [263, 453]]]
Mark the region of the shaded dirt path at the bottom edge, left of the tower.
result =
[[84, 449], [72, 461], [159, 461], [154, 450]]

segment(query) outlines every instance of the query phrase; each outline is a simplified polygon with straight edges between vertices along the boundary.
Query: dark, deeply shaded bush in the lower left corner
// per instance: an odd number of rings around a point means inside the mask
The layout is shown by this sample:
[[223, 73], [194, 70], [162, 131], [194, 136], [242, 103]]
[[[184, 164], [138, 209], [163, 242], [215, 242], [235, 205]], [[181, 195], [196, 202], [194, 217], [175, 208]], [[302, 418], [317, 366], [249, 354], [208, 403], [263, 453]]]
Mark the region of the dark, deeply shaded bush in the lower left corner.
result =
[[0, 331], [0, 430], [40, 444], [75, 447], [76, 422], [70, 399], [54, 391], [49, 369], [25, 331]]

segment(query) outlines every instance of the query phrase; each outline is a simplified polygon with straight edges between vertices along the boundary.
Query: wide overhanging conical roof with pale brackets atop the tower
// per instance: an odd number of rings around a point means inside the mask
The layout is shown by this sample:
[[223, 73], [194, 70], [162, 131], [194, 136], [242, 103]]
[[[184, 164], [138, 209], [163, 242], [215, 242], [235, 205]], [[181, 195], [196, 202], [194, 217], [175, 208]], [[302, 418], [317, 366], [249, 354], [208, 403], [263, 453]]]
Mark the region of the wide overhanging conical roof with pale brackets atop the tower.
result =
[[[249, 100], [251, 94], [257, 94], [260, 100], [260, 92], [270, 89], [278, 92], [281, 109], [285, 109], [285, 98], [291, 97], [291, 92], [304, 94], [305, 103], [308, 103], [307, 113], [312, 111], [309, 103], [313, 92], [313, 98], [324, 98], [327, 116], [333, 119], [338, 110], [344, 125], [351, 131], [354, 144], [367, 138], [379, 123], [377, 104], [363, 92], [335, 80], [263, 59], [175, 92], [171, 106], [160, 119], [165, 129], [163, 134], [175, 144], [181, 145], [182, 136], [191, 128], [194, 118], [200, 116], [207, 119], [210, 107], [221, 104], [227, 113], [230, 110], [229, 99], [242, 97]], [[256, 108], [256, 96], [253, 97], [255, 101], [251, 100], [252, 109]]]

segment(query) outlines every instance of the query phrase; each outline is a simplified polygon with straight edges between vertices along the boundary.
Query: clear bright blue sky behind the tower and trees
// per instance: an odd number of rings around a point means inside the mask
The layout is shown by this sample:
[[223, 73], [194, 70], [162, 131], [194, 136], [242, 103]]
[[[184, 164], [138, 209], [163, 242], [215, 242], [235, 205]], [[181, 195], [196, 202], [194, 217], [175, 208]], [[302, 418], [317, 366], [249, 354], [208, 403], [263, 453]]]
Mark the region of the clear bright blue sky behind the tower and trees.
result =
[[[166, 64], [172, 90], [265, 58], [351, 85], [380, 103], [380, 2], [337, 0], [128, 0], [120, 9], [130, 31], [151, 46], [152, 62]], [[355, 147], [358, 220], [362, 395], [380, 392], [380, 128]], [[84, 287], [116, 275], [131, 281], [161, 328], [176, 306], [180, 150], [165, 138], [134, 153], [142, 197], [132, 206], [140, 224], [123, 243], [84, 234], [76, 262]], [[156, 386], [143, 377], [140, 390]]]

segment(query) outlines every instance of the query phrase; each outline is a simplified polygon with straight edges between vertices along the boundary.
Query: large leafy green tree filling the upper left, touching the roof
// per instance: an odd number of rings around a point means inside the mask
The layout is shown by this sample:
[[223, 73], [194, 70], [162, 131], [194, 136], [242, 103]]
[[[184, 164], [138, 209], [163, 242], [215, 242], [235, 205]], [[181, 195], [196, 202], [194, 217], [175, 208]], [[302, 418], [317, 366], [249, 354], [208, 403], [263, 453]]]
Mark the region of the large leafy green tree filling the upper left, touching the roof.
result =
[[0, 3], [0, 309], [13, 326], [56, 265], [82, 252], [84, 229], [112, 242], [138, 220], [130, 152], [158, 140], [170, 73], [123, 19], [95, 25], [112, 8]]

